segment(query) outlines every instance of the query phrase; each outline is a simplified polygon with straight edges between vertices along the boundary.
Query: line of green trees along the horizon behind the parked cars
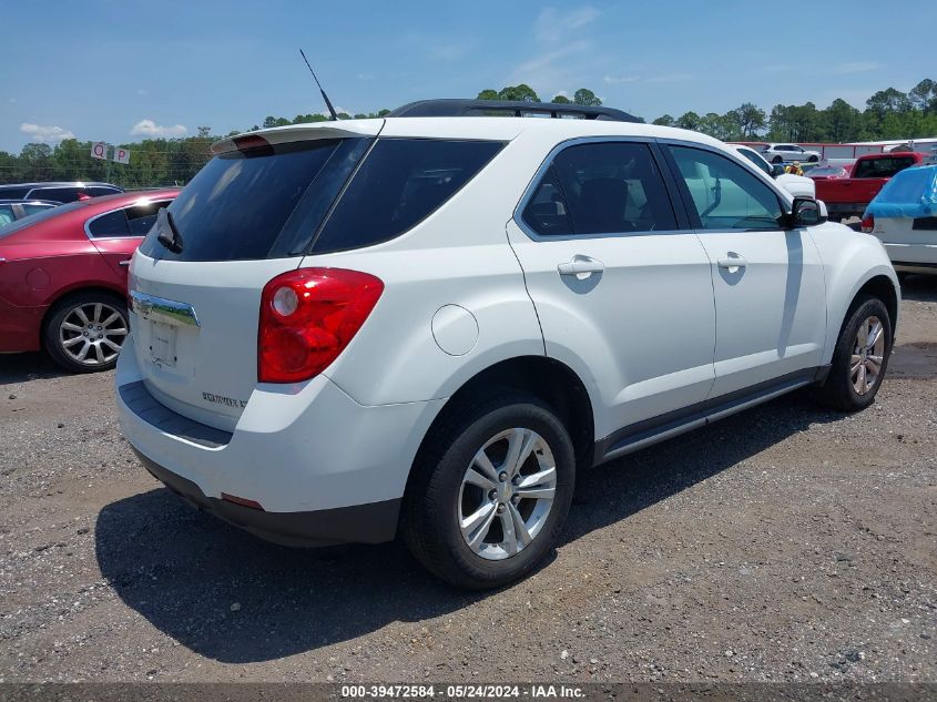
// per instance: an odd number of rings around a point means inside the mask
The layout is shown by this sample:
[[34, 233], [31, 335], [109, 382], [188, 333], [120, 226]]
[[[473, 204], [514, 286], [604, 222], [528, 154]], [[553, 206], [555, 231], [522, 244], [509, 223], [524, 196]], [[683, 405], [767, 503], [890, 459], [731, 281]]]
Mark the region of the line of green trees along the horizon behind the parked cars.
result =
[[[486, 89], [479, 100], [517, 100], [540, 102], [537, 92], [527, 85]], [[557, 94], [551, 102], [601, 105], [592, 90], [580, 88], [572, 98]], [[339, 113], [339, 120], [380, 118], [389, 110], [370, 114]], [[643, 118], [639, 118], [642, 122]], [[257, 130], [287, 124], [324, 122], [319, 113], [287, 118], [267, 116]], [[937, 136], [937, 83], [925, 79], [907, 93], [895, 88], [879, 90], [858, 110], [845, 100], [834, 100], [828, 108], [817, 109], [813, 102], [802, 105], [776, 104], [771, 111], [745, 102], [724, 114], [685, 112], [680, 116], [663, 114], [652, 122], [666, 126], [703, 132], [723, 141], [772, 142], [854, 142], [886, 139]], [[233, 131], [231, 136], [240, 133]], [[30, 143], [19, 154], [0, 151], [0, 183], [28, 181], [110, 181], [123, 187], [183, 185], [211, 159], [211, 145], [225, 135], [213, 134], [210, 126], [197, 128], [194, 136], [184, 139], [146, 139], [118, 144], [131, 152], [129, 165], [100, 161], [90, 156], [90, 141], [67, 139], [54, 147]]]

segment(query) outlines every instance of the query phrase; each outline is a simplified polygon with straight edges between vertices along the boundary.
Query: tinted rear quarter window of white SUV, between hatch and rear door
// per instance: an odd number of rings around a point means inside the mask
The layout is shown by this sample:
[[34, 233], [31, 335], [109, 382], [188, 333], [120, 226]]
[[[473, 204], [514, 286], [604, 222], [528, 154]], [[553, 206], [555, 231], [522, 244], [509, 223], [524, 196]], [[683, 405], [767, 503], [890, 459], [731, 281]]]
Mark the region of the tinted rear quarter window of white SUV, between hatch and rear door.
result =
[[316, 237], [313, 253], [371, 246], [399, 236], [438, 210], [503, 145], [378, 140]]

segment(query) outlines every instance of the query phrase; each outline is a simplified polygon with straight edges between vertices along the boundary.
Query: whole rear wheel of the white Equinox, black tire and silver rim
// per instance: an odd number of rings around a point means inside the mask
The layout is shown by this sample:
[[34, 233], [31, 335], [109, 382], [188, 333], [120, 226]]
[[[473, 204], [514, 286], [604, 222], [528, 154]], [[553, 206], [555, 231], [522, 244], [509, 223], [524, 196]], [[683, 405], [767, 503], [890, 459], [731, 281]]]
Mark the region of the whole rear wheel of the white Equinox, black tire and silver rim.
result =
[[569, 433], [539, 398], [505, 393], [466, 403], [420, 450], [403, 537], [444, 580], [498, 588], [531, 572], [553, 548], [574, 481]]

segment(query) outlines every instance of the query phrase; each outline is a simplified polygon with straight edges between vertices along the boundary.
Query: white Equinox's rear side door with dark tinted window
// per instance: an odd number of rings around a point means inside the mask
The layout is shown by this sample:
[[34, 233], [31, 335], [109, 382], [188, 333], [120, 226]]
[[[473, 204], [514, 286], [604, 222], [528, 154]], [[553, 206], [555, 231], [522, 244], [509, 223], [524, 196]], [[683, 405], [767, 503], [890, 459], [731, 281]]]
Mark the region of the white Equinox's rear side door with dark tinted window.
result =
[[508, 223], [547, 355], [593, 378], [599, 438], [702, 401], [712, 387], [709, 258], [681, 228], [671, 191], [652, 144], [572, 142]]

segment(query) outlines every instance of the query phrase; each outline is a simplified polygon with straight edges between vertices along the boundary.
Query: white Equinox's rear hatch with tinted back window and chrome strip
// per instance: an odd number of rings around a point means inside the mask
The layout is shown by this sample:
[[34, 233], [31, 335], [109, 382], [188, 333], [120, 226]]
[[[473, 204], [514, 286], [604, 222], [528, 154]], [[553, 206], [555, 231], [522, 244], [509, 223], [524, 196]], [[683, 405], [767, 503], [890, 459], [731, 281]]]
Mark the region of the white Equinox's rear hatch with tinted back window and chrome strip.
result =
[[136, 360], [159, 401], [234, 428], [257, 384], [263, 287], [299, 265], [381, 125], [285, 128], [215, 145], [131, 266]]

